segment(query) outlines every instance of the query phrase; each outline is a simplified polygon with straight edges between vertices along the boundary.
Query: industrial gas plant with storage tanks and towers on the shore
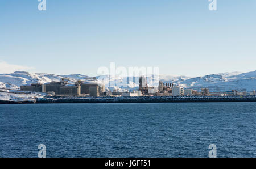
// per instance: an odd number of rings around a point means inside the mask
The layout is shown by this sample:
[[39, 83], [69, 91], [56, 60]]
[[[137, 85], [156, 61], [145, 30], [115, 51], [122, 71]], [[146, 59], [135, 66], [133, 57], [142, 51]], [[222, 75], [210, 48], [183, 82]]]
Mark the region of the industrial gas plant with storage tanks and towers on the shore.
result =
[[150, 87], [146, 77], [139, 78], [138, 90], [120, 91], [113, 90], [105, 92], [105, 84], [96, 78], [77, 81], [73, 84], [68, 83], [69, 79], [62, 78], [60, 82], [49, 82], [45, 84], [31, 84], [30, 86], [20, 86], [21, 91], [44, 92], [48, 96], [76, 96], [76, 97], [138, 97], [138, 96], [243, 96], [255, 95], [253, 92], [210, 92], [209, 88], [201, 88], [200, 91], [184, 89], [174, 83], [163, 83], [159, 81], [157, 87]]

